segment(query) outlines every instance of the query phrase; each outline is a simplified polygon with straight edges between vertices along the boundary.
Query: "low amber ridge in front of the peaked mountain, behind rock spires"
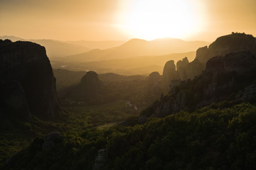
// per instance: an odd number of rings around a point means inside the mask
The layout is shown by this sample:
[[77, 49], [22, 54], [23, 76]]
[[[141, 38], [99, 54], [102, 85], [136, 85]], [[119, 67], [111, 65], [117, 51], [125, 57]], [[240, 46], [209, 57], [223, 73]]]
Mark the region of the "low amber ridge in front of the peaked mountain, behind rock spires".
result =
[[148, 75], [151, 72], [162, 72], [163, 65], [168, 60], [182, 60], [187, 57], [189, 61], [194, 60], [196, 52], [174, 53], [169, 55], [154, 55], [130, 57], [124, 59], [102, 60], [95, 62], [62, 62], [60, 60], [52, 60], [51, 64], [54, 69], [69, 69], [74, 71], [94, 70], [103, 74], [114, 72], [116, 74]]

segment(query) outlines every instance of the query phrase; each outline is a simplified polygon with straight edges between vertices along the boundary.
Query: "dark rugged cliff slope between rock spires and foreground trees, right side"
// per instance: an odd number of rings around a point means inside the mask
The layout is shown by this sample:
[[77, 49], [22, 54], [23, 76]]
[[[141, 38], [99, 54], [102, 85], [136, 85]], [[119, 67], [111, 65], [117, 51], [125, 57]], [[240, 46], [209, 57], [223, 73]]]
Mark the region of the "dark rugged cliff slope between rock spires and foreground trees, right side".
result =
[[256, 57], [252, 52], [234, 52], [224, 57], [213, 57], [206, 63], [206, 70], [191, 80], [181, 81], [152, 106], [146, 117], [164, 117], [178, 111], [193, 111], [213, 102], [255, 102]]

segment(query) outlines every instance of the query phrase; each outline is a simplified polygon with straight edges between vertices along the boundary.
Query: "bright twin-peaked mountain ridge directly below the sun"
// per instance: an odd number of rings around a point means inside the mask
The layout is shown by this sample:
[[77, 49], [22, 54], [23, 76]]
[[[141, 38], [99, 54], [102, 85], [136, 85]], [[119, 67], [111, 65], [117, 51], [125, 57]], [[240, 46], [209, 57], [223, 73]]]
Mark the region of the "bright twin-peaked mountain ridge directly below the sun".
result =
[[61, 60], [65, 62], [92, 62], [149, 55], [168, 55], [171, 53], [196, 51], [198, 47], [209, 44], [210, 42], [183, 41], [174, 38], [163, 38], [151, 41], [132, 39], [118, 47], [105, 50], [90, 50], [89, 52], [71, 55]]

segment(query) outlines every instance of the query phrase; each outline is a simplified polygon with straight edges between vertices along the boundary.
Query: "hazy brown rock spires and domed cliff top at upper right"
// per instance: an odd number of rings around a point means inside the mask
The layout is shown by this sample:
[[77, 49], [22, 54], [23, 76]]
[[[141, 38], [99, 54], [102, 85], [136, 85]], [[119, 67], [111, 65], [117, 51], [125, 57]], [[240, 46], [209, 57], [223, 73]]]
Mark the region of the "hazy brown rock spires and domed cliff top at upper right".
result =
[[[223, 57], [231, 52], [242, 51], [250, 51], [253, 55], [256, 55], [256, 38], [245, 33], [232, 33], [217, 38], [209, 47], [199, 48], [196, 51], [196, 59], [193, 62], [188, 62], [188, 59], [185, 57], [176, 63], [176, 69], [174, 63], [171, 64], [171, 61], [166, 62], [163, 72], [164, 89], [169, 88], [172, 85], [171, 81], [174, 79], [193, 79], [200, 75], [206, 69], [206, 62], [213, 57]], [[230, 59], [228, 58], [227, 60]], [[230, 60], [230, 62], [225, 63], [231, 62]]]

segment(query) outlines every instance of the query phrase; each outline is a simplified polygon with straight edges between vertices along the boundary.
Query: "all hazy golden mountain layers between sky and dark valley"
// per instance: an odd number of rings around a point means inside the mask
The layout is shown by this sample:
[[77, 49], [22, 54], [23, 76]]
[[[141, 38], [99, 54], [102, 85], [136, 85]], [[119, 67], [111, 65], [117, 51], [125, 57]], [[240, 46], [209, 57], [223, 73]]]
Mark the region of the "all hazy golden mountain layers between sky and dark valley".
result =
[[132, 39], [124, 41], [60, 41], [26, 40], [14, 36], [0, 36], [12, 41], [31, 41], [46, 47], [53, 68], [76, 71], [93, 70], [98, 73], [149, 74], [162, 72], [168, 60], [177, 62], [183, 57], [191, 61], [204, 41], [184, 41], [162, 38], [151, 41]]

